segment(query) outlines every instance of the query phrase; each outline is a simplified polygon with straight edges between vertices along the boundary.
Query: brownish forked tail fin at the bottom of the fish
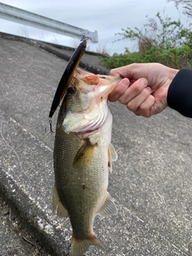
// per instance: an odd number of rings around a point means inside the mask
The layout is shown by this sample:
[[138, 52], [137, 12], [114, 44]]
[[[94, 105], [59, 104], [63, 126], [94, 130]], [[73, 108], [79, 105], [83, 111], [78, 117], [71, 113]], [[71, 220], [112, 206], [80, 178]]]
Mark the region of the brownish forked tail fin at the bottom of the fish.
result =
[[102, 250], [106, 250], [106, 248], [102, 245], [101, 242], [98, 241], [98, 239], [95, 236], [93, 238], [81, 240], [78, 238], [74, 238], [73, 235], [71, 245], [71, 256], [82, 256], [90, 246], [98, 246]]

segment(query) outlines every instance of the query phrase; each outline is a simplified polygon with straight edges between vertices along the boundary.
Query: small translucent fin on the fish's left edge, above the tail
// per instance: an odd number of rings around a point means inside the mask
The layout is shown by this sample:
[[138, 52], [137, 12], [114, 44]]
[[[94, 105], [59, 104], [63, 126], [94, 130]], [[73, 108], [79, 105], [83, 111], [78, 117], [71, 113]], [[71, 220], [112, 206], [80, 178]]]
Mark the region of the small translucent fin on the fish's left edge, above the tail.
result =
[[53, 192], [53, 211], [57, 213], [59, 217], [67, 217], [68, 212], [66, 208], [62, 205], [62, 202], [58, 196], [57, 187], [54, 184], [54, 192]]

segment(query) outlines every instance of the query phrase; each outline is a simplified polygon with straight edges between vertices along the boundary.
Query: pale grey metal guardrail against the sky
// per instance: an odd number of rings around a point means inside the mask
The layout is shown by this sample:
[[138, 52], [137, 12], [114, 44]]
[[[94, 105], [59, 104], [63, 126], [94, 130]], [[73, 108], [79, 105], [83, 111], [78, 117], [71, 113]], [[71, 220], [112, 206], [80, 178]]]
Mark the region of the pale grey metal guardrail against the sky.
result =
[[98, 31], [90, 32], [77, 26], [55, 21], [51, 18], [31, 13], [26, 10], [8, 6], [0, 2], [0, 18], [10, 22], [22, 23], [26, 26], [34, 26], [39, 29], [48, 30], [57, 34], [63, 34], [72, 38], [81, 39], [83, 36], [91, 38], [92, 42], [98, 42]]

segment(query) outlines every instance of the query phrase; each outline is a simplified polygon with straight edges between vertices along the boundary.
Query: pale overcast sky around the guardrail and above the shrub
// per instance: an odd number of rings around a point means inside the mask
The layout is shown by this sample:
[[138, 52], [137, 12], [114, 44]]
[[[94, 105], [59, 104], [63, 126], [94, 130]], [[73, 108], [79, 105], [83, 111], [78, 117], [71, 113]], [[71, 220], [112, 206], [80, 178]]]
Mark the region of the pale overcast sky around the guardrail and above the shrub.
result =
[[[130, 51], [137, 47], [127, 39], [118, 41], [121, 36], [115, 34], [121, 33], [122, 28], [126, 29], [129, 26], [140, 29], [146, 24], [147, 17], [155, 18], [158, 12], [173, 20], [177, 20], [181, 15], [174, 6], [174, 2], [166, 2], [166, 0], [2, 0], [1, 2], [92, 32], [97, 30], [98, 43], [92, 43], [89, 50], [106, 50], [110, 55], [124, 53], [126, 47]], [[0, 31], [71, 47], [76, 47], [79, 42], [77, 38], [1, 18]]]

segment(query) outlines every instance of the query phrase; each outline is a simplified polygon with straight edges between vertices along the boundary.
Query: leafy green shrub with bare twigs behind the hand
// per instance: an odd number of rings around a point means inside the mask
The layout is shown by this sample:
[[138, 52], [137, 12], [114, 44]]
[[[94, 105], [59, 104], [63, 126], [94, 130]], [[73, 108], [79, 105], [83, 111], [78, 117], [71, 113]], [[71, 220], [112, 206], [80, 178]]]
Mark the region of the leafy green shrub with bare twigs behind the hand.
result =
[[102, 58], [107, 68], [126, 66], [130, 63], [160, 62], [173, 68], [192, 67], [192, 32], [185, 28], [180, 20], [163, 19], [158, 13], [158, 21], [148, 19], [148, 23], [139, 30], [127, 27], [118, 33], [122, 38], [138, 43], [138, 51], [125, 50], [124, 54], [113, 54]]

